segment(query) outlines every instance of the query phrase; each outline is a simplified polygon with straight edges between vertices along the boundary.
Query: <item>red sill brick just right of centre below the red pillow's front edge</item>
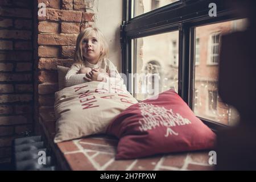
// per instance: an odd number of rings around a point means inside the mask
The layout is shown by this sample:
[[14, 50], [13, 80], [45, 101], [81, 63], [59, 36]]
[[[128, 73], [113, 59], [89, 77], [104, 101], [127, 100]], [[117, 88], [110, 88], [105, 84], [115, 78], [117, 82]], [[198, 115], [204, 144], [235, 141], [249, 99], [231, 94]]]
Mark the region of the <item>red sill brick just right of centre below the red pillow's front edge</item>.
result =
[[162, 166], [181, 168], [184, 165], [187, 154], [168, 155], [164, 158]]

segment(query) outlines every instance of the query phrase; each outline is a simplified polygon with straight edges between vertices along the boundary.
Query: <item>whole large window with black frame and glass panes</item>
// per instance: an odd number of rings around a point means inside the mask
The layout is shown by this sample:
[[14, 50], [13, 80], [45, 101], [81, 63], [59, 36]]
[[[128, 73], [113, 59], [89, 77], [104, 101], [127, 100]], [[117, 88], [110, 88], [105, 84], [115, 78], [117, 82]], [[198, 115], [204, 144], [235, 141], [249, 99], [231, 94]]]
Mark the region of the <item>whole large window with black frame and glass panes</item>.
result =
[[144, 100], [175, 89], [208, 126], [233, 125], [239, 114], [218, 96], [219, 50], [221, 35], [244, 30], [246, 20], [223, 0], [214, 1], [217, 17], [208, 15], [208, 0], [126, 1], [122, 69], [141, 75], [128, 78], [129, 91]]

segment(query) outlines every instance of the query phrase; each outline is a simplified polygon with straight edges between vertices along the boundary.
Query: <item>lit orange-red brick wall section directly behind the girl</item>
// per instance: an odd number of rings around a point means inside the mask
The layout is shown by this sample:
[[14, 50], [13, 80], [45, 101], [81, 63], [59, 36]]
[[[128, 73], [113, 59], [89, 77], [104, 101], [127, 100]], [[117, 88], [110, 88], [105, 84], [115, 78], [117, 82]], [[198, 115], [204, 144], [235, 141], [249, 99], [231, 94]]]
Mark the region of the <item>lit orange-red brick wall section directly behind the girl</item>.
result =
[[95, 15], [94, 0], [38, 0], [38, 3], [46, 4], [46, 16], [38, 16], [38, 24], [35, 23], [38, 25], [35, 105], [40, 113], [49, 107], [53, 110], [57, 65], [71, 66], [77, 35], [94, 24]]

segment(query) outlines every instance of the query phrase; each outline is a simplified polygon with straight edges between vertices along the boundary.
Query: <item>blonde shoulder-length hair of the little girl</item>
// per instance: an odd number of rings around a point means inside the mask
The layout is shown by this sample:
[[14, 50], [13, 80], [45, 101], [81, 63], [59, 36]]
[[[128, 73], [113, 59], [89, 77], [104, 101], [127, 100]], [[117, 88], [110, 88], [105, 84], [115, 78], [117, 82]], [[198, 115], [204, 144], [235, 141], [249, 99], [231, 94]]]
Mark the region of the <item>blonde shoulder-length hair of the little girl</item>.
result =
[[75, 51], [75, 63], [84, 63], [84, 57], [82, 57], [82, 40], [84, 38], [88, 38], [90, 34], [92, 34], [92, 31], [95, 32], [100, 44], [101, 44], [101, 55], [98, 59], [98, 61], [102, 61], [106, 58], [108, 55], [108, 43], [106, 42], [106, 39], [102, 32], [97, 27], [88, 27], [85, 28], [83, 31], [80, 32], [80, 34], [77, 36], [76, 39], [76, 51]]

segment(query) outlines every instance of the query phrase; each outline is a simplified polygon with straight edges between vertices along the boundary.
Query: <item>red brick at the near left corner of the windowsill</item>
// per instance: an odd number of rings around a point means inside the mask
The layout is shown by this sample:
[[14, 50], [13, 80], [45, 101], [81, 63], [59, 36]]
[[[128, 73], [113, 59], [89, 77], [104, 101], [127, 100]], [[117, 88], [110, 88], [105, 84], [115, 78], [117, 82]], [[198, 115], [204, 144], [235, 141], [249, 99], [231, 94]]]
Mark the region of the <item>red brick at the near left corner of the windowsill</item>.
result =
[[90, 160], [81, 152], [75, 154], [65, 154], [65, 158], [72, 171], [94, 171], [96, 168], [90, 163]]

